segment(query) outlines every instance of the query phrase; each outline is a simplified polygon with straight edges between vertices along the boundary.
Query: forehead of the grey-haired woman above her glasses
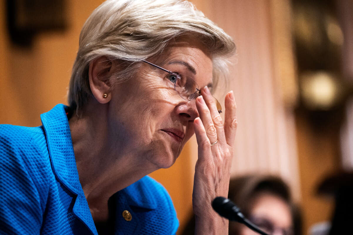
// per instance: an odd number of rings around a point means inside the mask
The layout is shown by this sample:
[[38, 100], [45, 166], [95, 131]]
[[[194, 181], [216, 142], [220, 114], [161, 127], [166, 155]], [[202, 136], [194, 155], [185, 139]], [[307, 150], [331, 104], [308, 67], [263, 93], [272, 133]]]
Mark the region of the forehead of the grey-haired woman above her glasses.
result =
[[157, 61], [165, 67], [183, 67], [200, 86], [212, 86], [212, 59], [207, 48], [196, 40], [170, 43]]

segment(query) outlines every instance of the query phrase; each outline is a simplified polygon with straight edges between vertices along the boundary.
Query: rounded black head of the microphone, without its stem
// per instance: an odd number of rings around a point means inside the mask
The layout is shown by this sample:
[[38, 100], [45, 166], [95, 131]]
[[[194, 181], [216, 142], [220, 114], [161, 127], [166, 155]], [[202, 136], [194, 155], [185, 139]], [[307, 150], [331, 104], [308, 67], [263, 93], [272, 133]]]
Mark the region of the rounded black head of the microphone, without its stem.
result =
[[243, 222], [244, 215], [240, 209], [228, 198], [216, 197], [212, 202], [213, 209], [220, 215], [229, 220]]

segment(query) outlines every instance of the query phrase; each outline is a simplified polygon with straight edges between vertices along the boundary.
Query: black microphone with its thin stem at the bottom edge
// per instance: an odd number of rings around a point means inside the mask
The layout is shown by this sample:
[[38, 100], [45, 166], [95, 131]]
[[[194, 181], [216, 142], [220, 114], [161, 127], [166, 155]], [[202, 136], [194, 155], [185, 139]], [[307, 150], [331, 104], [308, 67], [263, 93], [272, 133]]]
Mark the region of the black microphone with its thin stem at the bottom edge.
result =
[[246, 219], [238, 206], [236, 206], [231, 200], [227, 198], [216, 197], [212, 202], [212, 207], [222, 217], [245, 224], [248, 228], [259, 234], [269, 235], [268, 233], [265, 233], [259, 229], [255, 224], [251, 223], [248, 219]]

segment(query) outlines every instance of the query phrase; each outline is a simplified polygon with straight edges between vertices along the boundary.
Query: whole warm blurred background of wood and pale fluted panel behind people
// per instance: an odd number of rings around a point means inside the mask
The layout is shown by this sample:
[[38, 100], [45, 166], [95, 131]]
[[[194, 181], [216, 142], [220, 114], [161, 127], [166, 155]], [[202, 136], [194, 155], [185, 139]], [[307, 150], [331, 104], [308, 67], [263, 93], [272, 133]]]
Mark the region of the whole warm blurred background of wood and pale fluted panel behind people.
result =
[[[81, 27], [102, 0], [0, 0], [0, 123], [41, 125], [67, 104]], [[330, 221], [321, 182], [353, 169], [353, 1], [193, 0], [237, 44], [231, 82], [238, 133], [232, 175], [281, 176], [302, 208], [303, 234]], [[180, 227], [192, 213], [197, 147], [151, 174], [169, 191]]]

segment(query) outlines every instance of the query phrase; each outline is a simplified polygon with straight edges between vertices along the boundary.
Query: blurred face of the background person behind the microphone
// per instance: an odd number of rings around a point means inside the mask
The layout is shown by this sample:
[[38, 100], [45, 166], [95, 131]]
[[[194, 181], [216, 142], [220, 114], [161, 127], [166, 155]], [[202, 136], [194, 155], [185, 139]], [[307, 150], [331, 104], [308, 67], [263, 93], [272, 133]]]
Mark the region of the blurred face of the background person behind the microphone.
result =
[[[292, 216], [288, 204], [279, 196], [259, 193], [251, 201], [250, 221], [272, 235], [292, 235]], [[254, 231], [241, 226], [240, 235], [257, 235]]]

